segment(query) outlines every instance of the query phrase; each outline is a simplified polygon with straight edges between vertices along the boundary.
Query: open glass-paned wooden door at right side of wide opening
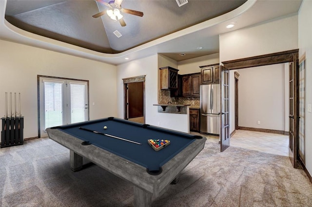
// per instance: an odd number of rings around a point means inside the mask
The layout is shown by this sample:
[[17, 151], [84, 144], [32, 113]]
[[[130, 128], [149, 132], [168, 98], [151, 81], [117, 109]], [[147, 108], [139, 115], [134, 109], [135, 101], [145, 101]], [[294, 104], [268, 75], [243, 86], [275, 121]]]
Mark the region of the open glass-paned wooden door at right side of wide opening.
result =
[[289, 63], [289, 158], [294, 168], [297, 167], [297, 72], [294, 62]]

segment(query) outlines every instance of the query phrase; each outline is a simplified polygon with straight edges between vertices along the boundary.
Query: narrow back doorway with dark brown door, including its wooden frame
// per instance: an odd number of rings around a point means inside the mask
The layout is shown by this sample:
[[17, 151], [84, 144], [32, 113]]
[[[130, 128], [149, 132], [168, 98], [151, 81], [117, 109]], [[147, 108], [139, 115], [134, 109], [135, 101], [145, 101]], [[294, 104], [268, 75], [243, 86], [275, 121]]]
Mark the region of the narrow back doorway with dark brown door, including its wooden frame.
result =
[[145, 123], [145, 76], [123, 79], [124, 119]]

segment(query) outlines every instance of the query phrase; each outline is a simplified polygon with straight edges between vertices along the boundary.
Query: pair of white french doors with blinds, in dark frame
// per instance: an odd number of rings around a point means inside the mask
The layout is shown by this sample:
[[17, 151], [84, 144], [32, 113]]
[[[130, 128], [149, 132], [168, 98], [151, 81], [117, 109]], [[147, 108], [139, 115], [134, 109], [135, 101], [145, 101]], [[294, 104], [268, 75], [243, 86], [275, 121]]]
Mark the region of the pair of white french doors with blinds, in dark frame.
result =
[[49, 127], [88, 121], [88, 82], [39, 77], [39, 108], [39, 137]]

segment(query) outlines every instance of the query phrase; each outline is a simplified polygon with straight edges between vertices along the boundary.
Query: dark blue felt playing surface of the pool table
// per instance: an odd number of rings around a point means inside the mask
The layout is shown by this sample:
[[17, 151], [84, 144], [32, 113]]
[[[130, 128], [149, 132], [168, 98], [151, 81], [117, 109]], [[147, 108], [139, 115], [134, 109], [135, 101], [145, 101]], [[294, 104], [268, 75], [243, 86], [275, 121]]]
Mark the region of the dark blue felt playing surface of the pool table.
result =
[[[107, 126], [106, 130], [103, 129], [104, 126]], [[79, 129], [79, 127], [130, 139], [142, 143], [142, 145], [88, 132]], [[195, 140], [192, 135], [164, 130], [154, 126], [143, 128], [142, 124], [119, 119], [103, 119], [100, 121], [88, 121], [82, 124], [71, 124], [61, 127], [60, 130], [83, 141], [90, 141], [91, 144], [146, 167], [150, 171], [159, 170], [162, 165]], [[168, 139], [171, 143], [156, 152], [148, 144], [148, 139]]]

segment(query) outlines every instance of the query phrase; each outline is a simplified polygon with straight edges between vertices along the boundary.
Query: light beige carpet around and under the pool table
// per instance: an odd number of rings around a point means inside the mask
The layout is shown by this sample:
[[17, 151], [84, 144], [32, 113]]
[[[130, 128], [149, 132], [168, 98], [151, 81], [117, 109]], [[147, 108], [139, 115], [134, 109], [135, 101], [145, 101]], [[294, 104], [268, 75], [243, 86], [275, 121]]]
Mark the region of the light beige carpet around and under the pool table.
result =
[[[237, 147], [205, 148], [154, 207], [309, 207], [312, 184], [287, 156]], [[69, 150], [48, 138], [0, 149], [1, 207], [123, 207], [133, 205], [131, 183], [96, 165], [69, 168]]]

